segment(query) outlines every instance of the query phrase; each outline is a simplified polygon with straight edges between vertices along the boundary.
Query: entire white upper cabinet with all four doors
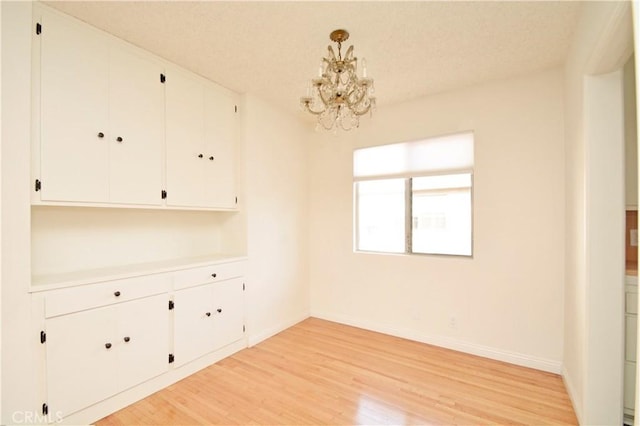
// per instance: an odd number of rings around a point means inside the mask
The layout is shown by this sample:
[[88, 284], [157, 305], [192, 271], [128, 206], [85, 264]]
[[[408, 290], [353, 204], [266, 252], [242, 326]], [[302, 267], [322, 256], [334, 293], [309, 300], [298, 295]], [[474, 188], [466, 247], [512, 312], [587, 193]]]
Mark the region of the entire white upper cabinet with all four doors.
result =
[[236, 207], [236, 94], [36, 10], [34, 203]]

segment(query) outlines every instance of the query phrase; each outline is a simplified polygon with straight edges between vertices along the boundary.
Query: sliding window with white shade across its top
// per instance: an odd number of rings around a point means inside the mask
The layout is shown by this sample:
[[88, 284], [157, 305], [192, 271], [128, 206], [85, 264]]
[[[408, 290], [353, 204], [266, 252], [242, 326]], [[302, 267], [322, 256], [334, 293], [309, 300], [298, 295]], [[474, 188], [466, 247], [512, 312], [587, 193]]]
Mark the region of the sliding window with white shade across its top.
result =
[[471, 256], [473, 134], [354, 151], [355, 250]]

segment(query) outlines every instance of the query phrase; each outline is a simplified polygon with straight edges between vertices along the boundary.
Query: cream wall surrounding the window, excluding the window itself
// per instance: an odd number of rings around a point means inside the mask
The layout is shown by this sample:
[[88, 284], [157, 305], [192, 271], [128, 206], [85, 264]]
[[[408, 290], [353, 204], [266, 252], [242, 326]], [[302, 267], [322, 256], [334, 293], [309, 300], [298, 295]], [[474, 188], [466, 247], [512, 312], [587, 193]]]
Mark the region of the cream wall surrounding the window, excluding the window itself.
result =
[[[353, 149], [465, 130], [475, 132], [473, 258], [353, 253]], [[559, 372], [563, 138], [560, 70], [381, 107], [357, 132], [319, 137], [312, 315]]]

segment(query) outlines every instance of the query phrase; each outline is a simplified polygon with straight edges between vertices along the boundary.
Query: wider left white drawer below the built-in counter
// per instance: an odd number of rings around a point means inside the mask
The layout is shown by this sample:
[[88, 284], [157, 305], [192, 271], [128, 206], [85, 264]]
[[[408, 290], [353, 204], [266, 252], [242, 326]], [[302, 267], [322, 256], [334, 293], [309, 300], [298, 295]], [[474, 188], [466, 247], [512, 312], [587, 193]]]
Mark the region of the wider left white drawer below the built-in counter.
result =
[[165, 293], [170, 286], [171, 275], [159, 274], [57, 290], [45, 296], [45, 316], [51, 318]]

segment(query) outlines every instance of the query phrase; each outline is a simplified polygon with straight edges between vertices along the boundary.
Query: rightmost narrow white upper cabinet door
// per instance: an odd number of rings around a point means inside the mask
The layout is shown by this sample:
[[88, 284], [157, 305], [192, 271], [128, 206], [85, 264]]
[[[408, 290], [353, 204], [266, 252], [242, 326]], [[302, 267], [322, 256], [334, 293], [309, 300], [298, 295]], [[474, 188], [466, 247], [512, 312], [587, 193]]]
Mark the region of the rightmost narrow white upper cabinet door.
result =
[[234, 94], [213, 85], [206, 87], [204, 196], [207, 206], [235, 207], [237, 115]]

